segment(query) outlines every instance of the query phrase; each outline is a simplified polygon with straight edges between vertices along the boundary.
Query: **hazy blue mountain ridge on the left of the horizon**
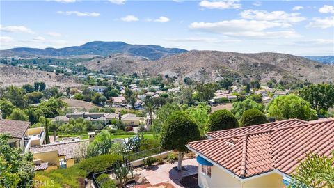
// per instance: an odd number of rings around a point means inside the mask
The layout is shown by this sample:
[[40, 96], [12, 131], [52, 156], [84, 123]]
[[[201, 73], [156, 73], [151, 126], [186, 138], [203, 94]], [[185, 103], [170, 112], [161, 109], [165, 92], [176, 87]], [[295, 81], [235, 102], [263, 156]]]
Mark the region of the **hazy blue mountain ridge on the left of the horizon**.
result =
[[100, 55], [109, 56], [110, 54], [127, 53], [132, 56], [141, 56], [150, 60], [157, 60], [166, 56], [187, 52], [185, 49], [164, 48], [157, 45], [129, 45], [125, 42], [87, 42], [81, 46], [64, 48], [29, 48], [17, 47], [13, 49], [1, 50], [1, 56], [80, 56], [80, 55]]

